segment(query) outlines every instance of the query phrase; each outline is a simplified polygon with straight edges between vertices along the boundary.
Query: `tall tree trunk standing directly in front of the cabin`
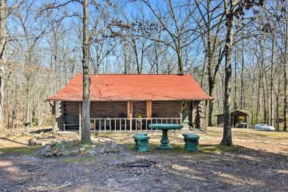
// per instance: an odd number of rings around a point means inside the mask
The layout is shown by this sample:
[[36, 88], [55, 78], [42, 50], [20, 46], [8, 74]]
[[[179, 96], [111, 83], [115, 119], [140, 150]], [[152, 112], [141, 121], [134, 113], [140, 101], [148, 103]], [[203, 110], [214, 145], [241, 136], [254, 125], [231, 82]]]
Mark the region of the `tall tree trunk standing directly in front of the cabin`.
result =
[[82, 106], [82, 130], [81, 142], [91, 143], [90, 133], [90, 71], [89, 71], [89, 56], [90, 42], [88, 35], [88, 0], [83, 1], [83, 106]]

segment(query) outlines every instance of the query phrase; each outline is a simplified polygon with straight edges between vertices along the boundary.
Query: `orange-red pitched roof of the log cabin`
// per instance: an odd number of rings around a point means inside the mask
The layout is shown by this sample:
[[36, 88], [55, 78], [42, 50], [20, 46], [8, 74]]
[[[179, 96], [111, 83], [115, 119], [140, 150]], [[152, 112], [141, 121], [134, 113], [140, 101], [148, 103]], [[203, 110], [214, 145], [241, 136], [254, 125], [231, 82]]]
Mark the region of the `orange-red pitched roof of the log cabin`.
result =
[[[82, 74], [78, 74], [47, 101], [82, 101]], [[191, 75], [91, 75], [91, 101], [206, 100]]]

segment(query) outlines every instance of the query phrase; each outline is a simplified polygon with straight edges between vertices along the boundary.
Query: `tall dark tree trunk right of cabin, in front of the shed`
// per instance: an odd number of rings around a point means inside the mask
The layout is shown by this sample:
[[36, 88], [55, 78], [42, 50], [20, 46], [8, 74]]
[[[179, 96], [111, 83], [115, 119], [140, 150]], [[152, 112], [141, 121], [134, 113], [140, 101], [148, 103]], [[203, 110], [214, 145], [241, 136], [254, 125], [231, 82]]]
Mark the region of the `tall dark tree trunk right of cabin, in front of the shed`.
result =
[[230, 1], [230, 9], [228, 10], [227, 0], [224, 1], [226, 14], [226, 43], [225, 43], [225, 82], [224, 82], [224, 130], [223, 138], [220, 145], [233, 145], [231, 134], [230, 119], [230, 91], [231, 91], [231, 54], [233, 40], [233, 1]]

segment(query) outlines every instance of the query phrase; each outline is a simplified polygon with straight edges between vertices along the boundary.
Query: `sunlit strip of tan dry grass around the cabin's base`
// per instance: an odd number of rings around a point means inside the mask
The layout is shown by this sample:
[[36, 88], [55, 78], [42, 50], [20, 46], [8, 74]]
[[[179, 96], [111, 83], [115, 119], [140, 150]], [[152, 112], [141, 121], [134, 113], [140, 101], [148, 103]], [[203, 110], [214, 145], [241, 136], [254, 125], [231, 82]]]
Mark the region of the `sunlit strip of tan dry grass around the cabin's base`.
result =
[[[208, 128], [207, 132], [197, 132], [200, 135], [200, 151], [207, 151], [209, 147], [204, 147], [205, 145], [213, 145], [212, 151], [223, 151], [219, 150], [219, 143], [222, 136], [222, 128]], [[16, 135], [2, 135], [0, 139], [0, 149], [1, 152], [9, 152], [9, 147], [14, 148], [16, 151], [21, 151], [26, 147], [29, 139], [35, 137], [37, 134], [16, 134]], [[160, 144], [162, 132], [149, 132], [151, 139], [150, 143], [154, 145]], [[92, 134], [93, 143], [105, 142], [105, 141], [116, 141], [119, 144], [131, 144], [134, 143], [132, 139], [132, 134], [127, 132], [110, 132], [107, 134], [99, 133]], [[55, 143], [59, 140], [79, 140], [80, 136], [78, 134], [51, 134], [45, 133], [41, 134], [38, 141], [43, 143]], [[276, 131], [261, 131], [261, 130], [246, 130], [246, 129], [232, 129], [232, 139], [235, 145], [242, 147], [248, 147], [250, 149], [260, 149], [267, 152], [281, 152], [287, 154], [288, 152], [288, 132], [276, 132]], [[169, 140], [174, 147], [181, 151], [183, 145], [182, 132], [169, 132]], [[211, 147], [210, 147], [211, 148]], [[12, 149], [11, 149], [12, 150]], [[13, 150], [11, 151], [13, 152]], [[25, 149], [23, 149], [25, 153]]]

